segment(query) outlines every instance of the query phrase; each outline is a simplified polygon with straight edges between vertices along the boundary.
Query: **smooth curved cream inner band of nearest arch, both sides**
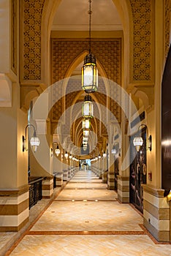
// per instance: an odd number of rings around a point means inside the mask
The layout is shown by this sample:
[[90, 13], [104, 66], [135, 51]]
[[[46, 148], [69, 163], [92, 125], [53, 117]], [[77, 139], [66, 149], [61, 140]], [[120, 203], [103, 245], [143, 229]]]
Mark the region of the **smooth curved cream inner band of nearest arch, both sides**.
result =
[[[49, 1], [45, 0], [44, 9], [42, 13], [42, 74], [44, 80], [49, 81], [50, 70], [47, 67], [50, 67], [50, 30], [53, 23], [54, 15], [58, 9], [58, 5], [62, 0]], [[132, 24], [132, 12], [130, 8], [129, 1], [127, 0], [113, 0], [113, 4], [118, 10], [120, 15], [122, 26], [123, 26], [123, 35], [124, 35], [124, 77], [123, 84], [127, 86], [129, 83], [129, 35], [130, 35], [130, 24]], [[132, 40], [132, 39], [131, 39]], [[66, 74], [69, 75], [69, 74]], [[127, 82], [127, 83], [125, 83]]]

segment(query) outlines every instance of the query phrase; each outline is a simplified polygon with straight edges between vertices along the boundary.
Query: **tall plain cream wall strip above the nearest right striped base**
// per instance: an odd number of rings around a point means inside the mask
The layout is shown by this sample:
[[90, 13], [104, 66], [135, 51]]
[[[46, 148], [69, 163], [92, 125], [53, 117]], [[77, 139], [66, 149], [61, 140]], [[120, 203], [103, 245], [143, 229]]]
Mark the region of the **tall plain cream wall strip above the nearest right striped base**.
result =
[[148, 151], [148, 172], [152, 181], [148, 184], [161, 187], [161, 82], [164, 70], [164, 1], [155, 1], [155, 85], [153, 110], [147, 114], [149, 135], [152, 135], [152, 151]]

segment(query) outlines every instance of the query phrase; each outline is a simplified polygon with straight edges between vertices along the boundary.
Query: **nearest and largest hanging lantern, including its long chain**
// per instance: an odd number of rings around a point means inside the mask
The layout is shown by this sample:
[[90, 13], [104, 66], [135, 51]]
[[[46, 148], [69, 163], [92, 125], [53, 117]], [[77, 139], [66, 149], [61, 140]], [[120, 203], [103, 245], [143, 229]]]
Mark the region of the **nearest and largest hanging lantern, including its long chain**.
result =
[[87, 93], [97, 91], [98, 89], [98, 69], [96, 67], [96, 58], [91, 53], [91, 0], [89, 1], [89, 53], [84, 59], [82, 67], [82, 89]]

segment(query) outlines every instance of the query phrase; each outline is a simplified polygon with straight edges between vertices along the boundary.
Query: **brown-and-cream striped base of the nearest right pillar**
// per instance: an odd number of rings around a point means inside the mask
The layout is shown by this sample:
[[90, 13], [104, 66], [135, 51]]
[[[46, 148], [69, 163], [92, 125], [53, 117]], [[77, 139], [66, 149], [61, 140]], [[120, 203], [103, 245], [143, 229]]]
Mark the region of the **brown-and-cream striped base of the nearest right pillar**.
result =
[[170, 203], [164, 189], [142, 184], [143, 224], [157, 241], [170, 241]]

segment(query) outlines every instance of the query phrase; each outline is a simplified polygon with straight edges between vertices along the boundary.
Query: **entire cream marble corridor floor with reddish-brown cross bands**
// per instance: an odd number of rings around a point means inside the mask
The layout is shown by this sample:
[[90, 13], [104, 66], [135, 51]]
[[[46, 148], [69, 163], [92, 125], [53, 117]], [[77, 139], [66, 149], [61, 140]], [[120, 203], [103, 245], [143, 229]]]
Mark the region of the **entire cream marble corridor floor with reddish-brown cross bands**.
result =
[[142, 215], [91, 170], [79, 170], [7, 255], [171, 256], [171, 245], [157, 243]]

